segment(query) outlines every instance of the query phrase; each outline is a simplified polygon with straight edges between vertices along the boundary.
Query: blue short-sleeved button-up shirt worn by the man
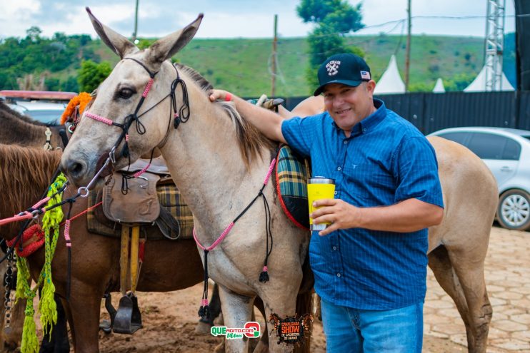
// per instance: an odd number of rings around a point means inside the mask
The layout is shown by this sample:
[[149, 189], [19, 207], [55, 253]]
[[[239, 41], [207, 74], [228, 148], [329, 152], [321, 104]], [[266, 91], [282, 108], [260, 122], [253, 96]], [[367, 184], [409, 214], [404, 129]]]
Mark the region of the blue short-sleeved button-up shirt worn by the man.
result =
[[[409, 198], [443, 207], [434, 149], [411, 123], [374, 99], [376, 112], [346, 138], [328, 113], [283, 122], [281, 132], [311, 158], [312, 175], [333, 178], [335, 198], [358, 207]], [[311, 235], [316, 292], [335, 305], [387, 310], [423, 302], [427, 230], [399, 233], [351, 228]]]

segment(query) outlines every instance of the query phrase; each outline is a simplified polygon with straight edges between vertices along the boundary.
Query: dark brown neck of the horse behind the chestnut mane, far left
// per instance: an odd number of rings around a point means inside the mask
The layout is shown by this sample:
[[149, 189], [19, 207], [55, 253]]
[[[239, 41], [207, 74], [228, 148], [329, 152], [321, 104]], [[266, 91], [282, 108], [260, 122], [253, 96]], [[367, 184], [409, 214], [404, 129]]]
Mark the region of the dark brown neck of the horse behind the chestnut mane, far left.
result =
[[46, 126], [27, 123], [9, 114], [0, 118], [0, 143], [29, 147], [42, 147], [46, 141]]

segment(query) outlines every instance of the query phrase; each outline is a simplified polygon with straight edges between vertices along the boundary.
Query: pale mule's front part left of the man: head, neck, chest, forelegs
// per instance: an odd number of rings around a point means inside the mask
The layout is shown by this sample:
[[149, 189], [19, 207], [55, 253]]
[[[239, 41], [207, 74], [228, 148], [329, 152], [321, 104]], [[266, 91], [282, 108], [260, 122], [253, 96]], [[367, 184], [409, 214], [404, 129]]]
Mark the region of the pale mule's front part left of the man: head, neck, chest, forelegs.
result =
[[[129, 130], [130, 161], [156, 147], [160, 149], [194, 215], [196, 237], [206, 247], [241, 214], [226, 238], [208, 255], [207, 268], [210, 277], [219, 284], [226, 327], [244, 327], [251, 321], [256, 296], [263, 300], [267, 317], [272, 313], [280, 317], [308, 313], [307, 305], [306, 309], [298, 309], [306, 311], [297, 311], [296, 300], [308, 255], [309, 232], [295, 227], [283, 215], [274, 185], [264, 186], [274, 146], [230, 104], [211, 103], [206, 94], [211, 86], [198, 73], [167, 61], [191, 40], [202, 15], [181, 31], [141, 51], [124, 36], [101, 24], [90, 12], [89, 15], [104, 43], [123, 60], [101, 83], [89, 112], [84, 113], [65, 150], [61, 166], [69, 174], [69, 180], [86, 185], [122, 133], [121, 128], [102, 123], [102, 118], [124, 123], [124, 118], [137, 108], [139, 114], [152, 108], [139, 118], [141, 126], [136, 126], [134, 121]], [[144, 101], [140, 97], [142, 93], [146, 95], [144, 88], [148, 82], [152, 82], [152, 87], [146, 103], [139, 103]], [[176, 106], [171, 105], [173, 100]], [[174, 113], [179, 117], [174, 118]], [[174, 127], [175, 122], [178, 128]], [[129, 163], [129, 158], [119, 155], [124, 142], [116, 149], [115, 168]], [[270, 220], [263, 201], [258, 198], [251, 205], [262, 187], [270, 207]], [[274, 245], [270, 237], [266, 241], [267, 227], [274, 237]], [[202, 251], [201, 256], [204, 260]], [[259, 281], [264, 270], [270, 276], [268, 282]], [[310, 305], [310, 297], [307, 290], [300, 299]], [[267, 325], [271, 332], [273, 327]], [[248, 339], [229, 339], [226, 350], [244, 352], [247, 345]], [[284, 349], [282, 345], [271, 345], [274, 352]]]

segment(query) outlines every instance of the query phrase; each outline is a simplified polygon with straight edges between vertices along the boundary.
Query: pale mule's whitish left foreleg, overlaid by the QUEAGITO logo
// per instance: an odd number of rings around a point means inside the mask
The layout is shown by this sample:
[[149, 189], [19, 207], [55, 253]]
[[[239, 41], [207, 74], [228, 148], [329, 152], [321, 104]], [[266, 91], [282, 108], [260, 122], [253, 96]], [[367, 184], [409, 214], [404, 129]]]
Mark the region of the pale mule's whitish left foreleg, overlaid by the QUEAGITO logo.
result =
[[[244, 327], [251, 319], [254, 307], [254, 297], [238, 295], [223, 285], [219, 285], [219, 296], [221, 297], [221, 307], [223, 308], [224, 325], [226, 327]], [[249, 339], [226, 339], [225, 352], [249, 352]]]

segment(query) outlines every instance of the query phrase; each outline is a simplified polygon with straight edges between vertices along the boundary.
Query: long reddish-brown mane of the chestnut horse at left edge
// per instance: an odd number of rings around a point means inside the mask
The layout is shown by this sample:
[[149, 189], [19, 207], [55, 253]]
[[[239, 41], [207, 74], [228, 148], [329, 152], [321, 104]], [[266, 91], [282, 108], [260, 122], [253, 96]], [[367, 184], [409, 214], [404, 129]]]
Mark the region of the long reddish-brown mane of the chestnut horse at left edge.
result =
[[[50, 185], [62, 153], [0, 144], [0, 218], [11, 217], [39, 200]], [[15, 225], [16, 226], [16, 225]]]

